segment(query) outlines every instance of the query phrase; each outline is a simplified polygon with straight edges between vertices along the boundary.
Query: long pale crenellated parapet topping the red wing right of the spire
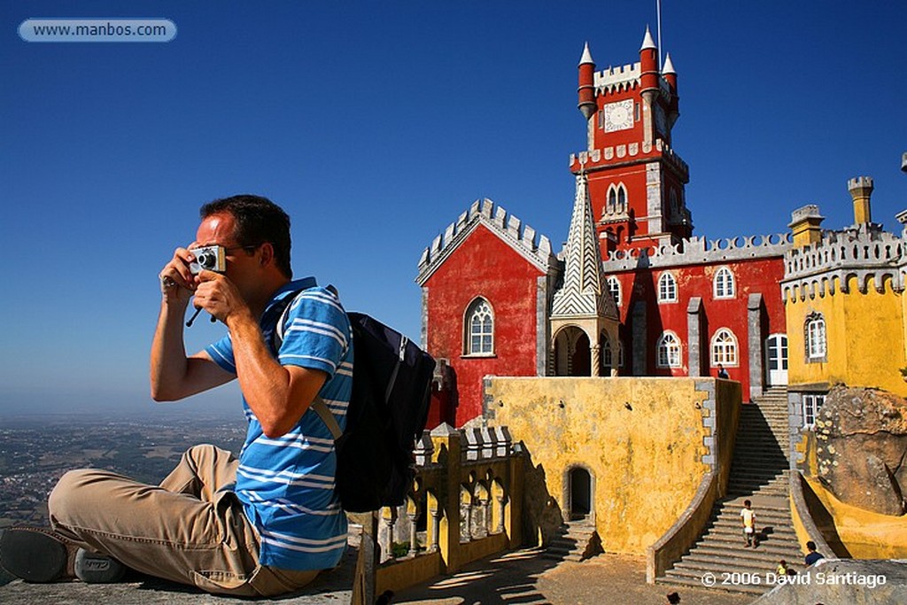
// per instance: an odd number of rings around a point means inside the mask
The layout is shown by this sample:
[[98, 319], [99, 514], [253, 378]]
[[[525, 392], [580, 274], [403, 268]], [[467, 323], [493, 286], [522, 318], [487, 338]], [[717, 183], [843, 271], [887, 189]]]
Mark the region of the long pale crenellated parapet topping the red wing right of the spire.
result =
[[790, 249], [788, 233], [748, 237], [706, 239], [694, 236], [675, 245], [612, 250], [601, 265], [605, 273], [638, 268], [669, 268], [689, 264], [722, 263], [748, 259], [782, 257]]

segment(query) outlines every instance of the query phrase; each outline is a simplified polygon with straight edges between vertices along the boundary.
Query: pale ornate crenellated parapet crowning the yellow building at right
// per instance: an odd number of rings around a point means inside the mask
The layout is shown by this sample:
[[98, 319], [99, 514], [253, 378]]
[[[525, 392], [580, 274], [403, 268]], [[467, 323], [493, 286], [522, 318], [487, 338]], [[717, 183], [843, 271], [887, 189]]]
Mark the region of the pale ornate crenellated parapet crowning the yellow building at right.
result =
[[879, 293], [885, 284], [895, 291], [904, 288], [907, 245], [902, 238], [865, 225], [840, 231], [824, 231], [822, 239], [785, 253], [785, 278], [781, 282], [785, 302], [848, 294], [855, 280], [860, 293], [869, 288]]

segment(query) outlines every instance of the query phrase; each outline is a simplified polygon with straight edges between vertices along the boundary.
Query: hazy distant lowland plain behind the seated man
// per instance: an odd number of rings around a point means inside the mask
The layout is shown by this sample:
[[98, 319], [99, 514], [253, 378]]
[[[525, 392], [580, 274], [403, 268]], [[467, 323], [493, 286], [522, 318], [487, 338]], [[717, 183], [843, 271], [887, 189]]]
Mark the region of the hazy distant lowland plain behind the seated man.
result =
[[47, 495], [70, 469], [102, 468], [160, 483], [191, 445], [239, 454], [246, 434], [241, 415], [17, 416], [0, 426], [0, 529], [47, 525]]

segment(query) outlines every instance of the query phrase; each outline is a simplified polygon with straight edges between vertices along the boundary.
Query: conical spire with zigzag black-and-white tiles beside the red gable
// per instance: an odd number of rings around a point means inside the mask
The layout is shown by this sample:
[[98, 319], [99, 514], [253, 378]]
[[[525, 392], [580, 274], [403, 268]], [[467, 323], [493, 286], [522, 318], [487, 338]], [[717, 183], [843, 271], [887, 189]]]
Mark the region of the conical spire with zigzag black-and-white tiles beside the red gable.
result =
[[618, 317], [617, 307], [604, 288], [601, 251], [589, 200], [589, 180], [576, 177], [570, 236], [564, 261], [564, 283], [551, 304], [551, 317]]

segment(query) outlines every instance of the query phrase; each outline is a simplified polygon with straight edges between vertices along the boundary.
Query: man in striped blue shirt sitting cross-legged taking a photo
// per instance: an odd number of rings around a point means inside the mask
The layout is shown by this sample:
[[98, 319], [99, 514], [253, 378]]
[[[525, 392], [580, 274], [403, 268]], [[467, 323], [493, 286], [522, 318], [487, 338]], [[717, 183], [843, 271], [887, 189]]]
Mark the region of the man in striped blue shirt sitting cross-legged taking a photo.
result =
[[[246, 442], [239, 458], [212, 445], [190, 448], [160, 485], [98, 469], [63, 475], [48, 504], [54, 532], [13, 534], [18, 550], [51, 539], [66, 546], [62, 569], [42, 578], [66, 575], [81, 547], [212, 593], [272, 596], [305, 586], [346, 549], [334, 440], [309, 409], [321, 397], [346, 424], [354, 357], [346, 312], [333, 288], [292, 279], [289, 218], [276, 204], [240, 195], [200, 214], [195, 241], [159, 275], [151, 396], [175, 401], [237, 379]], [[223, 266], [193, 266], [200, 247], [219, 247]], [[193, 298], [227, 334], [187, 355]]]

